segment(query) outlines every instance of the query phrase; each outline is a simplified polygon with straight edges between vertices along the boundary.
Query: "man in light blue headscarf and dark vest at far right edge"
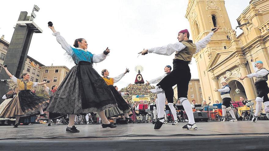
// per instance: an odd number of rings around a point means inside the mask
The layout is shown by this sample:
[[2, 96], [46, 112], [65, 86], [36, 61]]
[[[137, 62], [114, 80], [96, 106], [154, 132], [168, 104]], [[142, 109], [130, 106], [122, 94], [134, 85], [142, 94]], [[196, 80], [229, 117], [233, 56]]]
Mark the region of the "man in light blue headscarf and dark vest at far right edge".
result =
[[262, 61], [256, 61], [255, 63], [252, 63], [252, 65], [255, 73], [242, 76], [240, 79], [244, 80], [246, 77], [248, 78], [256, 77], [255, 87], [258, 95], [255, 100], [256, 111], [254, 113], [254, 117], [252, 118], [252, 122], [255, 123], [262, 108], [262, 102], [264, 105], [265, 112], [269, 113], [269, 98], [267, 95], [269, 93], [269, 88], [266, 82], [268, 80], [269, 71], [263, 67]]

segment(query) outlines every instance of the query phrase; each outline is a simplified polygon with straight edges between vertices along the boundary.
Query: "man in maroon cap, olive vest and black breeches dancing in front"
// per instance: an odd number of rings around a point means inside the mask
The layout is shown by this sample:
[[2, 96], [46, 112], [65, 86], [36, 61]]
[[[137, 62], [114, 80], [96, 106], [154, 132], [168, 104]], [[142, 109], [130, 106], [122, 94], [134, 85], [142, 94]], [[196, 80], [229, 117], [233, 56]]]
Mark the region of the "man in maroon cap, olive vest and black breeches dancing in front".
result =
[[[141, 53], [142, 55], [146, 55], [149, 53], [156, 53], [160, 55], [168, 55], [170, 56], [173, 52], [175, 53], [175, 59], [173, 59], [173, 68], [166, 77], [164, 77], [160, 83], [155, 87], [158, 97], [158, 106], [163, 108], [165, 105], [165, 94], [169, 96], [173, 96], [173, 90], [170, 88], [177, 84], [178, 88], [178, 98], [189, 118], [189, 123], [184, 125], [182, 128], [186, 130], [197, 130], [197, 126], [194, 122], [193, 112], [190, 105], [189, 100], [187, 99], [189, 81], [191, 78], [189, 63], [193, 57], [193, 54], [199, 52], [201, 49], [205, 48], [210, 38], [213, 34], [218, 31], [219, 27], [217, 27], [213, 32], [210, 32], [205, 38], [193, 44], [191, 40], [189, 40], [189, 31], [187, 29], [179, 31], [178, 33], [178, 41], [175, 44], [168, 44], [166, 46], [155, 47], [151, 49], [144, 49]], [[157, 107], [158, 108], [158, 107]], [[160, 110], [160, 114], [158, 115], [157, 122], [155, 123], [154, 129], [158, 130], [161, 128], [164, 122], [164, 111]]]

